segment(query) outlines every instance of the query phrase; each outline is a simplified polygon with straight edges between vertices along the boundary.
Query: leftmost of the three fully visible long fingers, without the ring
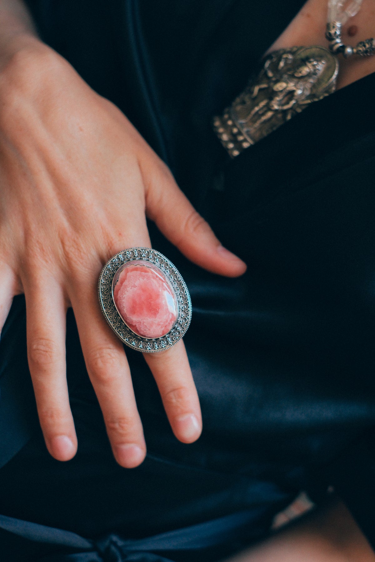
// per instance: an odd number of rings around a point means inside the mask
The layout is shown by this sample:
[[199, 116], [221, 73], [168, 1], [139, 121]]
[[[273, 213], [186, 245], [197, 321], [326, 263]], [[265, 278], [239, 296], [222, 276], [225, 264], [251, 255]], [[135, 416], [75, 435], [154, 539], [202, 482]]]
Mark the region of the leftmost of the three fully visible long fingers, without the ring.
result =
[[52, 277], [25, 283], [28, 360], [40, 426], [48, 451], [70, 460], [77, 439], [66, 382], [66, 305]]

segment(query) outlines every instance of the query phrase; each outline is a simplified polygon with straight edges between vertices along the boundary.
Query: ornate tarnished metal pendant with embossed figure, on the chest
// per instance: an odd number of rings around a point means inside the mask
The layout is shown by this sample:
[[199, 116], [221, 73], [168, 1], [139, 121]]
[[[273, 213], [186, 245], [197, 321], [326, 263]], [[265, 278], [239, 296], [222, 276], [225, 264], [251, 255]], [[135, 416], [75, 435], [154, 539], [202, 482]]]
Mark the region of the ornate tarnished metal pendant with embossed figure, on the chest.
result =
[[325, 47], [290, 47], [266, 56], [260, 71], [213, 120], [215, 133], [232, 158], [294, 115], [335, 90], [337, 57]]

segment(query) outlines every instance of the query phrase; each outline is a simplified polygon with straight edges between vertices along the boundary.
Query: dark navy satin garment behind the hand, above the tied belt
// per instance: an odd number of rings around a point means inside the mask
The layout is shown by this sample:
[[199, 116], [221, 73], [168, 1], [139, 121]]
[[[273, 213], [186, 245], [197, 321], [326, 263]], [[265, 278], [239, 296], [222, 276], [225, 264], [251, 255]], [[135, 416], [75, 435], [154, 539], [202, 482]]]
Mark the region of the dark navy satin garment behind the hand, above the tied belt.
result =
[[[135, 540], [263, 506], [254, 540], [299, 490], [320, 501], [334, 485], [375, 545], [375, 76], [233, 161], [211, 131], [301, 4], [30, 1], [42, 37], [129, 116], [249, 269], [238, 279], [207, 273], [150, 224], [153, 247], [191, 292], [185, 342], [204, 431], [193, 445], [176, 441], [146, 364], [127, 352], [148, 445], [131, 471], [112, 459], [71, 312], [79, 451], [64, 464], [48, 456], [16, 297], [0, 342], [3, 515], [90, 540]], [[8, 538], [0, 541], [13, 560]]]

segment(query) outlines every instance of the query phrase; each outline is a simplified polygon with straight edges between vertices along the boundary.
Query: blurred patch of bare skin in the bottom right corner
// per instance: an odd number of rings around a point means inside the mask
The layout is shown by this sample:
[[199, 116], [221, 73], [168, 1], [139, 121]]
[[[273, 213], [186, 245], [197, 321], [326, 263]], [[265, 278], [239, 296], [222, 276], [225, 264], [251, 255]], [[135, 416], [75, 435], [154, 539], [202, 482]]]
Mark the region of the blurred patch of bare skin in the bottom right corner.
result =
[[333, 501], [228, 562], [375, 562], [342, 502]]

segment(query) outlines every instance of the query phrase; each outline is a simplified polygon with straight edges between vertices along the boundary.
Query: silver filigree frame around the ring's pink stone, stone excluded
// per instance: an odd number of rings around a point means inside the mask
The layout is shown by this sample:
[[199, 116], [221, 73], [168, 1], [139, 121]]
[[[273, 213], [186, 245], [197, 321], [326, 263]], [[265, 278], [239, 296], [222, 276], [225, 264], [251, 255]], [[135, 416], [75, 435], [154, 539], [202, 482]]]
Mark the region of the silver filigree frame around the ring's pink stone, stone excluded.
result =
[[[114, 276], [121, 266], [135, 260], [148, 261], [159, 268], [174, 288], [178, 307], [177, 320], [169, 332], [160, 338], [144, 338], [133, 332], [125, 323], [115, 305], [112, 291]], [[152, 248], [129, 248], [111, 257], [101, 271], [98, 292], [101, 309], [107, 323], [116, 336], [121, 339], [121, 342], [133, 350], [148, 353], [168, 350], [184, 336], [189, 327], [192, 307], [186, 283], [172, 262]]]

